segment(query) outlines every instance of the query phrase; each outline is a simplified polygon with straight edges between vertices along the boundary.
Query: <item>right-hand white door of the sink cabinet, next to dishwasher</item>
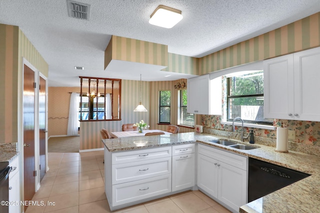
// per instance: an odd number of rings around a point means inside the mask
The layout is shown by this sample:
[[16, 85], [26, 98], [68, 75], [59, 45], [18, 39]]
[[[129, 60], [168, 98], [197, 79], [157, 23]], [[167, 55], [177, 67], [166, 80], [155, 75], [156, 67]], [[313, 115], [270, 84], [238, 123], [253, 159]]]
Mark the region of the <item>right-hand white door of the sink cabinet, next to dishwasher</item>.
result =
[[218, 199], [235, 211], [247, 201], [247, 172], [218, 162]]

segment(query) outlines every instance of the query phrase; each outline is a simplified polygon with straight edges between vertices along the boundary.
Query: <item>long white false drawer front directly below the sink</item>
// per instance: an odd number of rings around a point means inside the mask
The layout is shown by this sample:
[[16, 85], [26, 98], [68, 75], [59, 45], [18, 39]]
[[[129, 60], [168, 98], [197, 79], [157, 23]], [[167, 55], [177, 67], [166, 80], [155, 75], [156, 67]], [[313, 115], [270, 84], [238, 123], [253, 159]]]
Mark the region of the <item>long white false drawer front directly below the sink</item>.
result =
[[247, 157], [198, 144], [198, 153], [247, 171]]

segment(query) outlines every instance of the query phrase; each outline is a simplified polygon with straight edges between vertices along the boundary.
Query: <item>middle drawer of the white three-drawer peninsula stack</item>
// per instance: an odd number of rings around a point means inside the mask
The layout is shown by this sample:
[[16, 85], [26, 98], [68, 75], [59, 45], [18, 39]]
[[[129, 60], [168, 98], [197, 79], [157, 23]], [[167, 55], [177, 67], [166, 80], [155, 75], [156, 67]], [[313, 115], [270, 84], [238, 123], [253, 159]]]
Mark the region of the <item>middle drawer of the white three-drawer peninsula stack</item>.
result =
[[112, 185], [171, 173], [171, 157], [112, 165]]

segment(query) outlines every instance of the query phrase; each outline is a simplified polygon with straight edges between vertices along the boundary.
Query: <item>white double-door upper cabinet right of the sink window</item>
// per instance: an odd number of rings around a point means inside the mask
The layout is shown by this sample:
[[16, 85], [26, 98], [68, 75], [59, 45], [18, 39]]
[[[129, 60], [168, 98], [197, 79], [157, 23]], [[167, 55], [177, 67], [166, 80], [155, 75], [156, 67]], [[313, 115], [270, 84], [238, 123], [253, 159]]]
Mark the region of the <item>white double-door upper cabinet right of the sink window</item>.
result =
[[320, 121], [320, 47], [263, 61], [264, 117]]

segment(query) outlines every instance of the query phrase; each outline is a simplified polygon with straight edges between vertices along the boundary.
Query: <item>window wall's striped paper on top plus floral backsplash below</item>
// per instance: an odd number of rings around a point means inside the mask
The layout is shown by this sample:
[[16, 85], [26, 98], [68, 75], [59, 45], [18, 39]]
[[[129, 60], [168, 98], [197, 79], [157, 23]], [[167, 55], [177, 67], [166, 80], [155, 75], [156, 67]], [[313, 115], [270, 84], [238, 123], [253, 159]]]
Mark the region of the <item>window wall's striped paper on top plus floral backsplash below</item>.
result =
[[[204, 74], [319, 45], [320, 12], [200, 58], [199, 73]], [[220, 122], [221, 116], [201, 117], [201, 123], [206, 128], [230, 130], [226, 129], [230, 127], [223, 129]], [[279, 127], [281, 122], [288, 130], [295, 131], [294, 142], [320, 146], [320, 122], [273, 119], [273, 126]], [[248, 132], [248, 128], [245, 131]], [[275, 139], [276, 130], [254, 129], [254, 135]]]

